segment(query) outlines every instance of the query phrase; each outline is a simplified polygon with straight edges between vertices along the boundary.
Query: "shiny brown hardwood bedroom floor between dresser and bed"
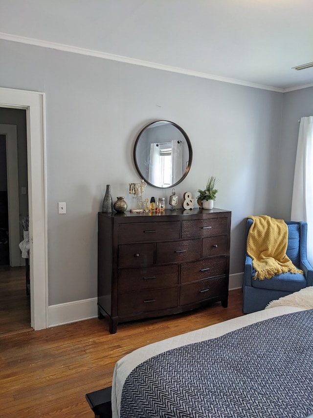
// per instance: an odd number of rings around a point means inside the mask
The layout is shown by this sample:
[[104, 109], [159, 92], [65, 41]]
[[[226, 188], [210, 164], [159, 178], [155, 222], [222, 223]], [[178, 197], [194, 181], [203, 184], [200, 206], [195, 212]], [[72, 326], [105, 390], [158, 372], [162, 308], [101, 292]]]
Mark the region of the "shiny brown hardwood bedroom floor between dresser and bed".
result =
[[85, 394], [111, 386], [115, 362], [146, 344], [242, 316], [242, 292], [171, 317], [120, 324], [91, 319], [0, 336], [0, 417], [92, 418]]

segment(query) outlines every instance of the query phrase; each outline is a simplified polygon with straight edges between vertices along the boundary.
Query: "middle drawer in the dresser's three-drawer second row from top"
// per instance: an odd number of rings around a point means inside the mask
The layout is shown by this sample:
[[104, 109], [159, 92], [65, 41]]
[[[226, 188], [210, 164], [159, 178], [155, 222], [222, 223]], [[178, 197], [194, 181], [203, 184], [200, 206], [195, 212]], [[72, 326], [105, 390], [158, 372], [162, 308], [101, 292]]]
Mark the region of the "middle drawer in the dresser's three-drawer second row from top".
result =
[[156, 244], [156, 264], [195, 260], [201, 256], [201, 240]]

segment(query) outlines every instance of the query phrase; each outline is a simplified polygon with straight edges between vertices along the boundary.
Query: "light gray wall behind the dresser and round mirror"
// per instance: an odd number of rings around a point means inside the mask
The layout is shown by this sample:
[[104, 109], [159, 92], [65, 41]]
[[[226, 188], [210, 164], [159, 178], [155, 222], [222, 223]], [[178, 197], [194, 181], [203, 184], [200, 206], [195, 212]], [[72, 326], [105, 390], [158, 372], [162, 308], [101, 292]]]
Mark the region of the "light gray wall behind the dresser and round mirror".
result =
[[[175, 188], [180, 202], [186, 191], [196, 197], [208, 176], [220, 179], [216, 207], [232, 211], [230, 272], [243, 271], [246, 216], [280, 216], [283, 94], [8, 41], [0, 55], [2, 87], [46, 94], [49, 305], [97, 295], [106, 184], [113, 201], [125, 196], [135, 206], [134, 141], [155, 120], [178, 123], [192, 143], [191, 170]], [[148, 186], [145, 197], [158, 190]], [[66, 215], [58, 215], [59, 201]]]

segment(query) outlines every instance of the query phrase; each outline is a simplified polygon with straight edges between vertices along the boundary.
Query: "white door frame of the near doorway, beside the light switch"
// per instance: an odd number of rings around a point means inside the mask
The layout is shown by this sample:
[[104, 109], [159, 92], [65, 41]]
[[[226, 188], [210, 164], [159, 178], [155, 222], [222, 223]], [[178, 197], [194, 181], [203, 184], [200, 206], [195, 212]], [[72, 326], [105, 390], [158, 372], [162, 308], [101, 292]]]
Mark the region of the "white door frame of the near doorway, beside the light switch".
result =
[[0, 87], [0, 107], [26, 110], [31, 327], [48, 324], [45, 94]]

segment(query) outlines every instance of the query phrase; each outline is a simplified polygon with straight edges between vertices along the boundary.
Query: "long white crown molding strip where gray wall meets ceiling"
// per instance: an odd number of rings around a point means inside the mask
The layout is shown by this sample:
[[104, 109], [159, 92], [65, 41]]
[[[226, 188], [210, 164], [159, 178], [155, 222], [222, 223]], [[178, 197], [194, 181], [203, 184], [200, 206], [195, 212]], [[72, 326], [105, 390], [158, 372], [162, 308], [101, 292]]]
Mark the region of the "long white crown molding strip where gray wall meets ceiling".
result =
[[305, 86], [290, 87], [290, 88], [287, 88], [287, 89], [272, 87], [272, 86], [267, 86], [267, 85], [263, 85], [263, 84], [250, 83], [250, 82], [244, 81], [244, 80], [237, 80], [237, 79], [234, 79], [234, 78], [227, 78], [227, 77], [222, 77], [222, 76], [219, 76], [219, 75], [207, 74], [207, 73], [201, 73], [201, 72], [197, 72], [197, 71], [187, 70], [187, 69], [179, 68], [179, 67], [171, 67], [169, 65], [158, 64], [158, 63], [155, 63], [155, 62], [144, 61], [144, 60], [130, 58], [130, 57], [122, 56], [122, 55], [110, 54], [110, 53], [107, 53], [107, 52], [97, 51], [97, 50], [93, 50], [93, 49], [74, 47], [74, 46], [71, 46], [71, 45], [59, 44], [59, 43], [56, 43], [56, 42], [43, 41], [41, 39], [27, 38], [27, 37], [19, 36], [19, 35], [12, 35], [10, 33], [4, 33], [4, 32], [0, 32], [0, 39], [6, 40], [6, 41], [12, 41], [12, 42], [19, 42], [19, 43], [22, 43], [22, 44], [34, 45], [34, 46], [42, 47], [42, 48], [57, 49], [57, 50], [60, 50], [60, 51], [65, 51], [65, 52], [72, 52], [72, 53], [81, 54], [81, 55], [88, 55], [88, 56], [102, 58], [102, 59], [108, 59], [108, 60], [112, 60], [112, 61], [125, 62], [125, 63], [128, 63], [128, 64], [139, 65], [139, 66], [142, 66], [142, 67], [154, 68], [156, 70], [169, 71], [171, 73], [191, 75], [191, 76], [194, 76], [194, 77], [207, 78], [207, 79], [210, 79], [210, 80], [222, 81], [224, 83], [230, 83], [230, 84], [238, 84], [238, 85], [241, 85], [241, 86], [252, 87], [252, 88], [255, 88], [255, 89], [270, 90], [270, 91], [278, 92], [278, 93], [285, 93], [285, 92], [290, 92], [290, 91], [299, 90], [299, 89], [305, 89], [307, 87], [312, 87], [313, 86], [313, 84], [307, 84]]

